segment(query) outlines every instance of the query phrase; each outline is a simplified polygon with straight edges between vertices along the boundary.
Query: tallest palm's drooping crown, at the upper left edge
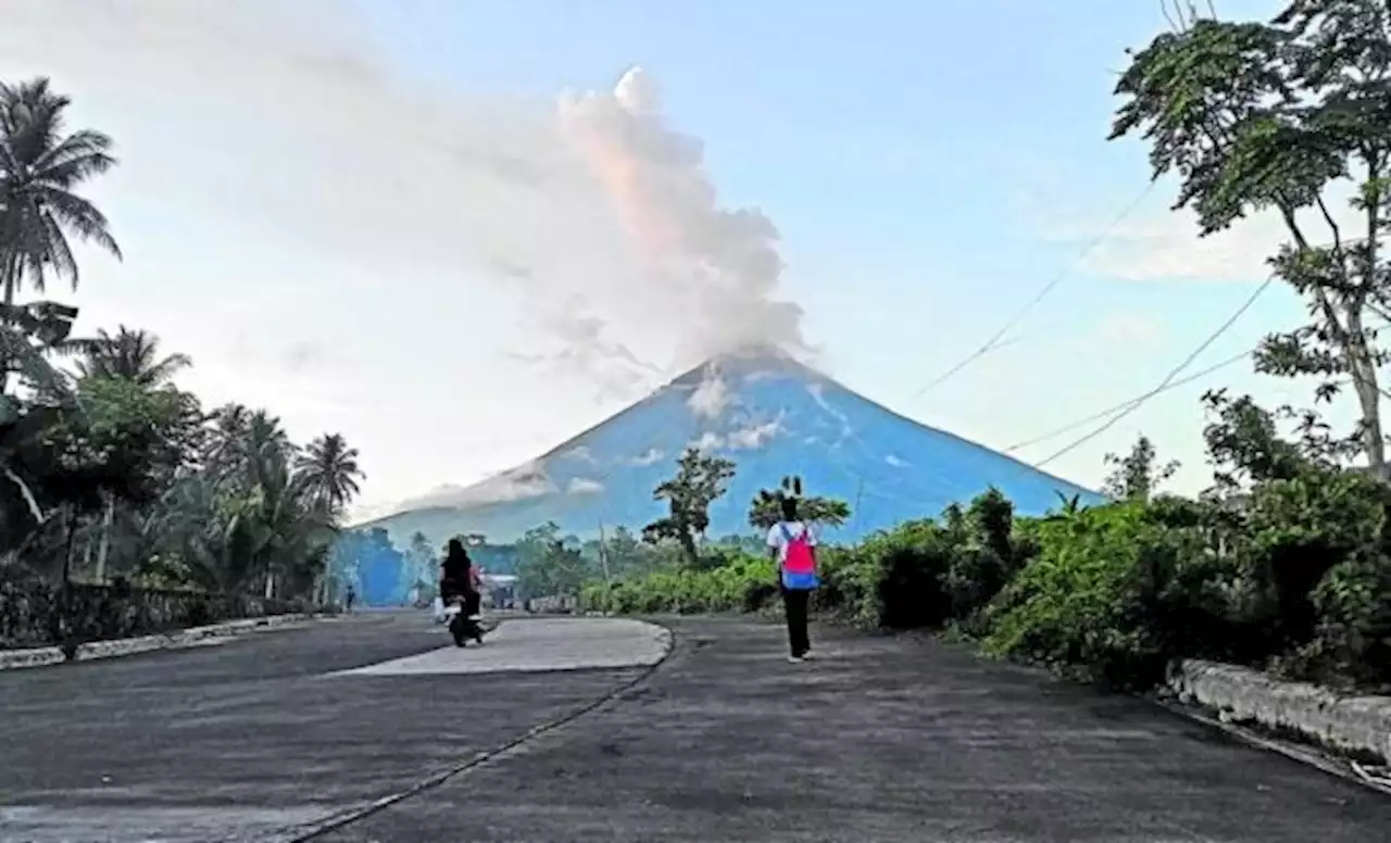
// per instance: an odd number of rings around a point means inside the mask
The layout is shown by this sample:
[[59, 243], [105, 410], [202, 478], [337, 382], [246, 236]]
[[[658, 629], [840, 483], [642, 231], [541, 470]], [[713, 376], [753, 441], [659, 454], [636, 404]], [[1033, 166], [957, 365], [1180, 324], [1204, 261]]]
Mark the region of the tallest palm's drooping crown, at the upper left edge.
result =
[[[71, 104], [45, 78], [10, 85], [0, 82], [0, 288], [10, 321], [15, 294], [25, 280], [43, 292], [56, 273], [74, 288], [78, 264], [68, 234], [95, 242], [115, 257], [121, 249], [100, 210], [74, 191], [115, 164], [111, 139], [79, 129], [64, 135], [63, 117]], [[0, 342], [0, 395], [6, 394], [13, 342]]]

